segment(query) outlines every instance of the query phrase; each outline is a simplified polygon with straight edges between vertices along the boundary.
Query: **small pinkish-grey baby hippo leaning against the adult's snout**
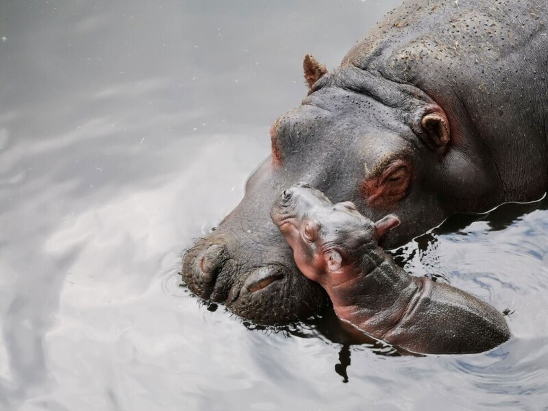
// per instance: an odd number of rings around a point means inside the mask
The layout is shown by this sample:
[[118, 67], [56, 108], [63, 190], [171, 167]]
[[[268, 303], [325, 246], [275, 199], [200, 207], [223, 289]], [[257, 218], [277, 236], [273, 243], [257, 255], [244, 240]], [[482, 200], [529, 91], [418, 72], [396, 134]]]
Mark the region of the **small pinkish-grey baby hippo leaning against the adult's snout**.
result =
[[477, 353], [510, 338], [501, 313], [458, 288], [413, 277], [379, 247], [399, 225], [373, 223], [351, 202], [333, 204], [299, 183], [284, 190], [272, 219], [299, 270], [318, 282], [337, 316], [366, 334], [413, 353]]

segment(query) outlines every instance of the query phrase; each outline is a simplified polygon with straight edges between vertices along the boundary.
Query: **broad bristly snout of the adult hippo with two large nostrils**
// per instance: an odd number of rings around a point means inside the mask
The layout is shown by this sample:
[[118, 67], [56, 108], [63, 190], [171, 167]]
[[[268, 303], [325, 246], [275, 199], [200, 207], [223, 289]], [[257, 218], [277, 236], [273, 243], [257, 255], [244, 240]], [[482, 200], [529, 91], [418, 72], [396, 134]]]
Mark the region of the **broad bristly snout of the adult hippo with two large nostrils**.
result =
[[[238, 242], [227, 232], [216, 232], [184, 254], [184, 282], [198, 297], [225, 303], [234, 314], [256, 323], [277, 325], [307, 318], [321, 309], [327, 298], [299, 273], [286, 247], [281, 242], [270, 262], [264, 262], [258, 257], [264, 256], [260, 244]], [[310, 303], [301, 304], [302, 295]]]

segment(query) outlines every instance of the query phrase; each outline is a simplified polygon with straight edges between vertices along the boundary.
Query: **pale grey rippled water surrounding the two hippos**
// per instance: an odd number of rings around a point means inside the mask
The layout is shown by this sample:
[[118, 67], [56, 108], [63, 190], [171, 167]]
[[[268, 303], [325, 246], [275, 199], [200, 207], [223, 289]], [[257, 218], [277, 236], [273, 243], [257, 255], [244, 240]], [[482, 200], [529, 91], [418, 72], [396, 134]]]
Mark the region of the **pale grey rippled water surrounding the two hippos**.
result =
[[305, 97], [303, 55], [336, 66], [396, 3], [1, 2], [0, 409], [548, 409], [547, 201], [395, 251], [508, 312], [490, 353], [264, 329], [179, 286]]

